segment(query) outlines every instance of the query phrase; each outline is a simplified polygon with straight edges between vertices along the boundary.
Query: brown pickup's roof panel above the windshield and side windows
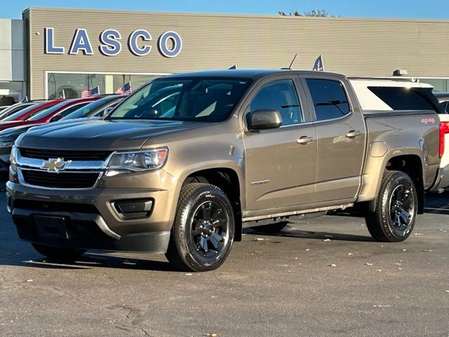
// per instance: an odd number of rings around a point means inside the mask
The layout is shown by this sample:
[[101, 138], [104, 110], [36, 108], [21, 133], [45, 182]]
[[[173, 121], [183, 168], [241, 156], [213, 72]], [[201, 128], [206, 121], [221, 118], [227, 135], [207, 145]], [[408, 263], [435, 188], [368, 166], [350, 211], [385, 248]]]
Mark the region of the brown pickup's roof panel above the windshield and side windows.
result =
[[[181, 77], [229, 77], [229, 78], [245, 78], [245, 79], [260, 79], [276, 74], [332, 74], [330, 72], [312, 72], [309, 70], [290, 70], [290, 69], [225, 69], [225, 70], [201, 70], [198, 72], [181, 72], [177, 74], [170, 74], [164, 77], [167, 78], [181, 78]], [[333, 74], [337, 75], [337, 74]], [[342, 75], [340, 75], [342, 76]]]

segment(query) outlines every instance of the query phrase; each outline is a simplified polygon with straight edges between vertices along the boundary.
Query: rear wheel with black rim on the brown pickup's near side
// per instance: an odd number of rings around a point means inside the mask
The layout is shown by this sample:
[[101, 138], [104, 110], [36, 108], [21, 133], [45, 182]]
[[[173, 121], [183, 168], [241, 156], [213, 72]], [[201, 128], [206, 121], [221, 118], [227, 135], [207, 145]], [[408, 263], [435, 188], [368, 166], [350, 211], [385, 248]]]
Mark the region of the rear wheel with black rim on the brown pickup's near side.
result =
[[386, 171], [376, 209], [366, 213], [366, 227], [378, 242], [402, 242], [415, 227], [417, 208], [417, 190], [410, 176]]

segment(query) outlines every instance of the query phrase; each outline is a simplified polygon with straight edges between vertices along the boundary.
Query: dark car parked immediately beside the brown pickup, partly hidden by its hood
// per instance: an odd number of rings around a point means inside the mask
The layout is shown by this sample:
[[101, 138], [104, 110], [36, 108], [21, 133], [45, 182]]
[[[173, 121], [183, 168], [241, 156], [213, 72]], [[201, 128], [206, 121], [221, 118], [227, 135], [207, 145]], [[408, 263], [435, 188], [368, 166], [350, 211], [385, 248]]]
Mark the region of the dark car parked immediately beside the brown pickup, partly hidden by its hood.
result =
[[[91, 117], [101, 117], [103, 112], [119, 104], [123, 98], [127, 95], [108, 95], [99, 100], [95, 100], [78, 110], [68, 114], [63, 117], [58, 123], [65, 123], [66, 121], [71, 121], [73, 119], [79, 118], [91, 118]], [[11, 149], [14, 145], [15, 140], [22, 134], [29, 130], [29, 128], [37, 128], [38, 126], [46, 125], [41, 124], [26, 124], [21, 126], [14, 126], [12, 128], [6, 128], [0, 131], [0, 173], [7, 172], [9, 169], [9, 157], [11, 154]]]

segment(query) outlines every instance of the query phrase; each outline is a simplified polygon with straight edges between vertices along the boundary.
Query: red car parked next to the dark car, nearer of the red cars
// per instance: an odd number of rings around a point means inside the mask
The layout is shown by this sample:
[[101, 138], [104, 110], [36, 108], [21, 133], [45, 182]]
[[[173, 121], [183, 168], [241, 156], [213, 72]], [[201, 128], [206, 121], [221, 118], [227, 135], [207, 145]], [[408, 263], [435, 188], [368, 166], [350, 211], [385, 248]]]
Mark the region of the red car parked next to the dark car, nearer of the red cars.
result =
[[[17, 119], [12, 119], [11, 121], [4, 119], [0, 123], [0, 131], [6, 130], [7, 128], [13, 128], [15, 126], [45, 124], [49, 121], [59, 121], [60, 119], [62, 119], [62, 117], [67, 116], [67, 114], [70, 114], [75, 110], [78, 110], [80, 107], [83, 107], [84, 105], [100, 98], [100, 96], [94, 96], [90, 98], [74, 98], [72, 100], [49, 101], [36, 107], [34, 111], [30, 110], [29, 112], [26, 112], [27, 115], [25, 117], [15, 117]], [[11, 115], [10, 117], [13, 117], [13, 115]]]

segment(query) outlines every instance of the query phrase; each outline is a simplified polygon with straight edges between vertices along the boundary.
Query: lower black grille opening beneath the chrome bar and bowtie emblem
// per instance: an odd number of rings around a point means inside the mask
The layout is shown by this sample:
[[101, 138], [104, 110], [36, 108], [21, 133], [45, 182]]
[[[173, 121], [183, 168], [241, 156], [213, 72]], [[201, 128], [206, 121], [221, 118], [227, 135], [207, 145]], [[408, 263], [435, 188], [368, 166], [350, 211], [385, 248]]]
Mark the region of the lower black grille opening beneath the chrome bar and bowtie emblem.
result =
[[100, 173], [60, 172], [21, 170], [23, 180], [28, 185], [47, 188], [87, 189], [93, 188]]

